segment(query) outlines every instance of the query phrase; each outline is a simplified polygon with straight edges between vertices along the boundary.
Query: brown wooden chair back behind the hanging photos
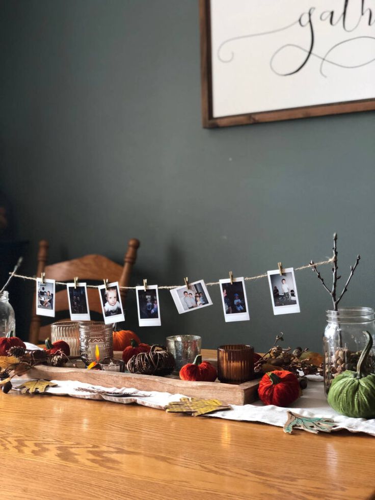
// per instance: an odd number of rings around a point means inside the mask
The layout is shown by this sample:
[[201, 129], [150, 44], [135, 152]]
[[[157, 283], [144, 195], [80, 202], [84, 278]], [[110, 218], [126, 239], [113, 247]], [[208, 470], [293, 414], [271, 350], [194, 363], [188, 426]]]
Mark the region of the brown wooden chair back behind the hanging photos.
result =
[[[48, 242], [42, 240], [39, 242], [37, 276], [45, 273], [47, 279], [56, 281], [73, 282], [74, 276], [78, 276], [79, 281], [95, 280], [102, 281], [108, 278], [108, 281], [118, 281], [119, 286], [128, 286], [130, 274], [137, 258], [137, 250], [140, 246], [139, 240], [132, 238], [128, 242], [127, 251], [124, 256], [124, 265], [120, 266], [107, 257], [102, 255], [85, 255], [81, 258], [66, 260], [46, 266], [48, 259]], [[59, 285], [58, 285], [59, 287]], [[61, 286], [60, 286], [61, 288]], [[120, 289], [122, 304], [126, 300], [126, 290]], [[96, 311], [101, 314], [101, 303], [97, 288], [87, 288], [90, 311]], [[30, 325], [29, 341], [38, 344], [40, 340], [45, 340], [50, 335], [50, 324], [41, 326], [42, 317], [36, 314], [36, 297], [34, 292], [32, 320]], [[55, 311], [69, 311], [68, 294], [65, 290], [59, 290], [55, 294]], [[52, 319], [51, 323], [55, 321]]]

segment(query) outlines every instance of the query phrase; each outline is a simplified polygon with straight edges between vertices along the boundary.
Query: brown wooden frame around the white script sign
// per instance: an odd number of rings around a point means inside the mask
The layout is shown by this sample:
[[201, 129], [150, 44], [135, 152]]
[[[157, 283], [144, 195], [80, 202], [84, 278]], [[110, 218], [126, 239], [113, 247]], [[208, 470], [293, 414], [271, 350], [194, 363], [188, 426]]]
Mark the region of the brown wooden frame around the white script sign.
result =
[[[225, 116], [213, 115], [212, 92], [212, 51], [211, 51], [211, 1], [199, 0], [200, 39], [201, 39], [201, 95], [202, 95], [202, 124], [204, 128], [226, 127], [232, 125], [245, 125], [278, 120], [290, 120], [313, 116], [335, 115], [375, 110], [375, 84], [374, 97], [354, 99], [341, 102], [330, 102], [312, 106], [289, 107], [285, 109], [267, 110], [261, 112], [247, 112]], [[311, 9], [310, 9], [311, 10]], [[372, 15], [372, 25], [375, 22], [375, 9], [367, 9]], [[338, 15], [338, 14], [337, 14]], [[364, 15], [364, 14], [362, 14]], [[301, 16], [302, 17], [302, 16]], [[337, 19], [337, 17], [336, 17]], [[332, 21], [332, 19], [331, 19]], [[370, 25], [371, 17], [368, 19]], [[370, 38], [370, 37], [358, 37]], [[375, 41], [375, 38], [373, 38]], [[366, 63], [369, 64], [369, 63]], [[373, 63], [375, 65], [375, 62]], [[353, 66], [354, 67], [354, 66]], [[372, 70], [372, 69], [371, 69]]]

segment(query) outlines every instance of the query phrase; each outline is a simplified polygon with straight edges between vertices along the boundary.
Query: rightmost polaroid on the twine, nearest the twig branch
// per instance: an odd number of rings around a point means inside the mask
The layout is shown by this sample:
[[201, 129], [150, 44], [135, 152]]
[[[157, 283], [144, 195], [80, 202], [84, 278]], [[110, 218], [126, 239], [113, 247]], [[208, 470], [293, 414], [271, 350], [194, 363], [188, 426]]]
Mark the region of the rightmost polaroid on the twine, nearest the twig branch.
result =
[[300, 312], [294, 270], [293, 268], [287, 268], [283, 271], [282, 275], [280, 275], [278, 269], [276, 271], [267, 271], [275, 315]]

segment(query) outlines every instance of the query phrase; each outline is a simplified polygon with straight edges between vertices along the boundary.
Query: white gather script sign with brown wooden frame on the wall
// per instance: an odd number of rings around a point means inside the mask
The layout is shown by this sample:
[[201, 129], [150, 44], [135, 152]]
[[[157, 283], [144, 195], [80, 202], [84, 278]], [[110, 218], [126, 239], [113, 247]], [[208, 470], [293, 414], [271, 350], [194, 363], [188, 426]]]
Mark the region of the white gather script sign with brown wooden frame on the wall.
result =
[[199, 0], [204, 127], [375, 110], [375, 0]]

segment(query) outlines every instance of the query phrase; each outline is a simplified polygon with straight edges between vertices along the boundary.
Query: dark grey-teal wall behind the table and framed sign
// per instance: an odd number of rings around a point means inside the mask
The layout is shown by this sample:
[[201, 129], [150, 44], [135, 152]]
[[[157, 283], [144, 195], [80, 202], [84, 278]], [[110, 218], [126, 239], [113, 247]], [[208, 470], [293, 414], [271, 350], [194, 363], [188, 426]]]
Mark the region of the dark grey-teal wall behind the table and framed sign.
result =
[[[0, 4], [1, 189], [17, 235], [50, 242], [50, 261], [141, 240], [132, 284], [253, 276], [331, 255], [343, 276], [362, 260], [343, 305], [373, 305], [374, 113], [206, 130], [200, 118], [195, 0], [6, 0]], [[330, 267], [322, 274], [330, 277]], [[328, 294], [296, 273], [300, 314], [274, 317], [265, 279], [248, 283], [250, 322], [214, 305], [178, 315], [160, 292], [162, 327], [263, 350], [320, 348]], [[343, 280], [344, 278], [342, 278]], [[25, 283], [25, 293], [32, 287]], [[134, 295], [126, 325], [138, 329]], [[139, 329], [138, 329], [139, 330]]]

